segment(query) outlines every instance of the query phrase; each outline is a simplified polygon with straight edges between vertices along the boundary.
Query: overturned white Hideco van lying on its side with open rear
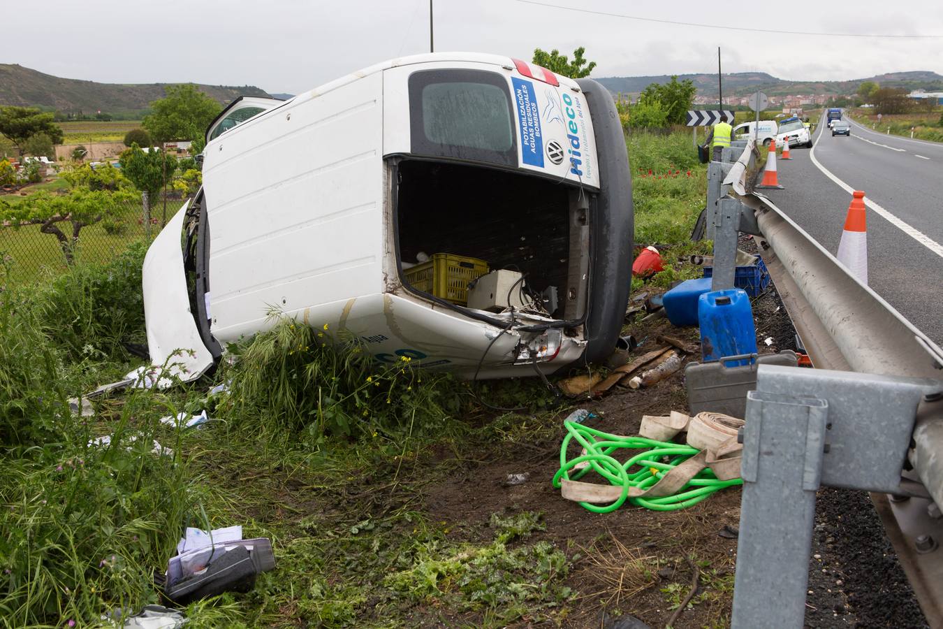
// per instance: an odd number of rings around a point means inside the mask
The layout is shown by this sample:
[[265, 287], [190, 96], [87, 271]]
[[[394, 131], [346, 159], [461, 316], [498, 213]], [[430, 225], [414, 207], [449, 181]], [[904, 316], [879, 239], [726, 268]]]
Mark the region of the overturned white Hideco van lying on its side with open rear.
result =
[[615, 347], [632, 194], [595, 81], [491, 55], [394, 59], [233, 103], [207, 130], [203, 176], [143, 268], [152, 360], [190, 350], [185, 380], [273, 308], [378, 361], [468, 378]]

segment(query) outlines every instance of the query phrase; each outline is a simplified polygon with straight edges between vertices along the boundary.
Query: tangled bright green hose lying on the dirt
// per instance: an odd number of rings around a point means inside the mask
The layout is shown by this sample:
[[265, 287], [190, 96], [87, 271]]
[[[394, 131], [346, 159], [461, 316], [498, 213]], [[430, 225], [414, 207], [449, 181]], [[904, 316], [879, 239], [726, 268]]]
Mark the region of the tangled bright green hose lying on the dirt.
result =
[[[683, 443], [656, 441], [644, 437], [620, 437], [611, 435], [582, 423], [563, 422], [567, 434], [560, 444], [560, 469], [554, 474], [554, 488], [560, 488], [563, 480], [577, 480], [589, 472], [596, 472], [610, 485], [622, 488], [620, 497], [610, 505], [580, 503], [588, 511], [609, 513], [615, 511], [626, 500], [630, 505], [644, 506], [653, 511], [674, 511], [697, 505], [722, 488], [742, 485], [743, 479], [722, 481], [710, 468], [698, 472], [678, 493], [671, 496], [651, 498], [629, 498], [631, 488], [647, 489], [675, 467], [697, 455], [700, 450]], [[567, 450], [571, 442], [578, 443], [586, 454], [567, 459]], [[614, 455], [620, 450], [641, 450], [625, 463], [620, 463]], [[587, 463], [575, 472], [577, 465]]]

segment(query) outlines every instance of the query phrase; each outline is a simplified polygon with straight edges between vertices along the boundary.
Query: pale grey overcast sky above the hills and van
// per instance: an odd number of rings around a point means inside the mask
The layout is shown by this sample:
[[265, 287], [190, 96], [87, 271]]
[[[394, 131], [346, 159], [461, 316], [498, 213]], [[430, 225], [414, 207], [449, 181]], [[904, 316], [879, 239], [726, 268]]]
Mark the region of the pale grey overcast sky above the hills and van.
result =
[[[10, 0], [11, 1], [11, 0]], [[930, 70], [943, 74], [938, 0], [830, 5], [538, 0], [658, 20], [933, 39], [772, 35], [667, 25], [520, 0], [435, 0], [437, 51], [529, 60], [535, 47], [587, 47], [593, 76], [762, 71], [841, 80]], [[297, 93], [387, 58], [428, 51], [428, 0], [36, 0], [4, 11], [0, 62], [108, 83], [256, 85]], [[708, 9], [710, 8], [710, 9]]]

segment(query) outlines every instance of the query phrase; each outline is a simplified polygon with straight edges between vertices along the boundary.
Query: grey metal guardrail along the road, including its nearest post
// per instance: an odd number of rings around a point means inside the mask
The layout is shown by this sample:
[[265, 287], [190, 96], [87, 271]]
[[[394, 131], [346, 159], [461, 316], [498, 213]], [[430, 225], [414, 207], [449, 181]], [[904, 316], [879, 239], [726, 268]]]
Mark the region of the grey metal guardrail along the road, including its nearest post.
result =
[[[729, 248], [731, 216], [737, 233], [755, 235], [817, 369], [758, 369], [747, 411], [753, 428], [744, 436], [733, 626], [802, 626], [821, 486], [875, 492], [871, 498], [927, 621], [943, 626], [943, 350], [769, 198], [750, 191], [750, 149], [723, 179], [713, 213], [708, 199], [709, 220], [719, 218], [715, 247]], [[786, 432], [769, 440], [777, 430]], [[789, 430], [799, 443], [792, 455], [782, 446]], [[772, 460], [779, 462], [770, 467]], [[861, 460], [869, 461], [867, 469]], [[784, 472], [790, 463], [792, 477]], [[786, 489], [797, 478], [801, 486], [784, 512]]]

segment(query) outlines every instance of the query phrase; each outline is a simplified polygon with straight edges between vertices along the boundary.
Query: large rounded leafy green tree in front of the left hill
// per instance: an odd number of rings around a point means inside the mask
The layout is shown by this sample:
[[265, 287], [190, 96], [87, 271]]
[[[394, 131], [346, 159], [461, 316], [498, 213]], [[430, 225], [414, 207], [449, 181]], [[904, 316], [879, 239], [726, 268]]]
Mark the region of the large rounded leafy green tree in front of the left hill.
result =
[[199, 138], [222, 110], [219, 103], [190, 83], [167, 86], [164, 92], [167, 96], [151, 103], [151, 113], [143, 120], [144, 128], [156, 141]]

